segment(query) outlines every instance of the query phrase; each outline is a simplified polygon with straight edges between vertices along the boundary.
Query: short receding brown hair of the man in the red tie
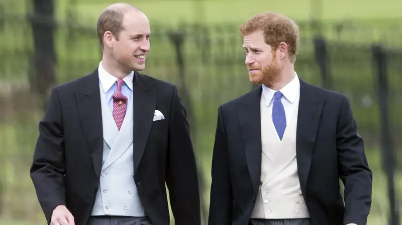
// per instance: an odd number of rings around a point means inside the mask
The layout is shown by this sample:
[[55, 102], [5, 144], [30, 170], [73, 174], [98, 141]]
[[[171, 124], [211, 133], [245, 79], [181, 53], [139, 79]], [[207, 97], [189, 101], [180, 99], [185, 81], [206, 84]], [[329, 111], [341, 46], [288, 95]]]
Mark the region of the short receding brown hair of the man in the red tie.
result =
[[109, 6], [100, 14], [97, 24], [97, 37], [99, 39], [99, 43], [103, 48], [103, 40], [105, 32], [110, 31], [119, 40], [120, 32], [123, 31], [123, 18], [124, 14], [127, 13], [129, 10], [135, 9], [140, 11], [135, 6], [131, 6], [125, 3], [118, 3], [112, 6]]

